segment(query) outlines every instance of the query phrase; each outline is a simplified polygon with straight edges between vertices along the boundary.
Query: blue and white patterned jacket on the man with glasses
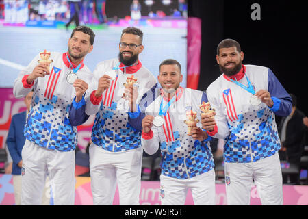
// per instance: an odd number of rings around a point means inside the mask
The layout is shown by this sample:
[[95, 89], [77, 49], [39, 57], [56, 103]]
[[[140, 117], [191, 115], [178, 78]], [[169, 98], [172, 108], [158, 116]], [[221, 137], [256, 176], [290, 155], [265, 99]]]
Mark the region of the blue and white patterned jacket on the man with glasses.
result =
[[[86, 94], [88, 101], [81, 100], [79, 103], [73, 101], [70, 108], [70, 120], [73, 125], [81, 125], [88, 116], [95, 114], [94, 125], [92, 128], [92, 142], [97, 146], [111, 152], [127, 151], [140, 148], [141, 146], [141, 122], [144, 113], [131, 113], [125, 110], [125, 99], [122, 98], [127, 77], [134, 77], [138, 83], [138, 98], [136, 103], [144, 99], [148, 94], [153, 94], [157, 86], [154, 75], [142, 66], [139, 61], [136, 66], [121, 68], [123, 64], [118, 65], [118, 58], [99, 62], [95, 68], [92, 83]], [[114, 67], [120, 67], [116, 70], [117, 77], [110, 82], [110, 87], [103, 92], [101, 98], [94, 96], [99, 78], [110, 72]], [[87, 96], [90, 95], [89, 98]], [[149, 98], [153, 101], [153, 97]], [[147, 103], [144, 103], [145, 105]], [[141, 110], [142, 111], [142, 110]]]

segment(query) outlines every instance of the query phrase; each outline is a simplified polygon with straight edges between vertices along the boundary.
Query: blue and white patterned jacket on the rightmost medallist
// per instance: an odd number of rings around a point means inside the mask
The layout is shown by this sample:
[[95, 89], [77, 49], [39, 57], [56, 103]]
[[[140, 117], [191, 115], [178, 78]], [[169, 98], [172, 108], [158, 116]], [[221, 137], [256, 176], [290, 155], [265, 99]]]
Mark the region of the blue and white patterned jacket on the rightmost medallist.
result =
[[[281, 145], [275, 115], [287, 116], [292, 110], [292, 99], [270, 68], [243, 65], [236, 80], [248, 86], [251, 81], [255, 92], [268, 90], [274, 101], [270, 108], [261, 103], [251, 105], [253, 94], [221, 75], [207, 88], [211, 107], [216, 110], [215, 138], [225, 138], [225, 162], [256, 162], [279, 151]], [[233, 77], [233, 79], [235, 79]]]

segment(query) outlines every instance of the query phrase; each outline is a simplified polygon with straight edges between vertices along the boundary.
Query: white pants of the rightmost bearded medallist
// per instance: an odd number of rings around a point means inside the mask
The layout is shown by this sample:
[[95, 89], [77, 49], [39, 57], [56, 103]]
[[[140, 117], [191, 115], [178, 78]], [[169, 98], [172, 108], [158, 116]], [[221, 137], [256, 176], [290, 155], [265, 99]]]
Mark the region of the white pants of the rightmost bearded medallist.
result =
[[224, 163], [224, 173], [228, 205], [250, 205], [253, 179], [262, 205], [283, 205], [278, 153], [257, 162]]

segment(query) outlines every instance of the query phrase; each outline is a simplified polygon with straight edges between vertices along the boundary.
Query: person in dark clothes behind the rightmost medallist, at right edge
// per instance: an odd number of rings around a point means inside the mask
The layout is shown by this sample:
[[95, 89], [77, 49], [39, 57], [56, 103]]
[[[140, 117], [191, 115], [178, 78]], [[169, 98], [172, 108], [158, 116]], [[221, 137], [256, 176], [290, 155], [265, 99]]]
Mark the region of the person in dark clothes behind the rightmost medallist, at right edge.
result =
[[[300, 157], [305, 145], [305, 125], [303, 124], [305, 114], [296, 107], [296, 96], [294, 94], [290, 94], [290, 96], [292, 98], [291, 114], [283, 117], [278, 127], [281, 141], [279, 155], [282, 159], [283, 153], [285, 153], [287, 162], [296, 165], [298, 175], [290, 175], [290, 181], [299, 184]], [[285, 179], [283, 181], [285, 182]]]

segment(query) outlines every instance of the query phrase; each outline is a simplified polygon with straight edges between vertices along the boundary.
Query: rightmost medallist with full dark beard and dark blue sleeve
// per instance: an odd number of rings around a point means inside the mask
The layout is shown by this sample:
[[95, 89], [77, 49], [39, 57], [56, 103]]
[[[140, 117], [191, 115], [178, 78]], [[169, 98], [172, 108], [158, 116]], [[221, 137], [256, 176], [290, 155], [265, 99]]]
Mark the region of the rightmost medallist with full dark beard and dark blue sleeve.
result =
[[235, 40], [222, 40], [216, 60], [222, 75], [207, 88], [214, 118], [202, 116], [203, 129], [224, 138], [224, 174], [229, 205], [249, 205], [253, 180], [262, 205], [282, 205], [275, 115], [287, 116], [292, 99], [270, 68], [244, 65]]

